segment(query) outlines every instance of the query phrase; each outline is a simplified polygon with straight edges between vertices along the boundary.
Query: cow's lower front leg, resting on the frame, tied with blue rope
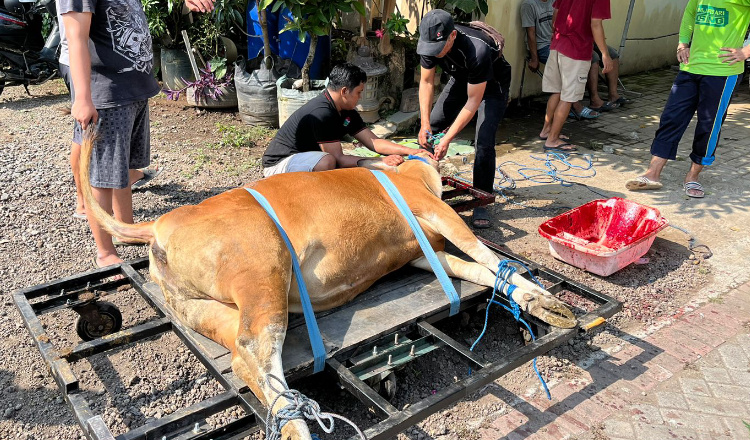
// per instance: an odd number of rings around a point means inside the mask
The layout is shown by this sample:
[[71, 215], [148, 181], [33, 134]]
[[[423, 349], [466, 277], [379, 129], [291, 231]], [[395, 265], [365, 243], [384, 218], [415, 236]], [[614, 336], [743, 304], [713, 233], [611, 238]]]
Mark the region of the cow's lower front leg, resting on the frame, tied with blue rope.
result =
[[[477, 263], [464, 261], [445, 252], [437, 252], [437, 256], [448, 276], [461, 278], [480, 286], [493, 287], [495, 285], [495, 274], [486, 267]], [[432, 267], [425, 257], [417, 258], [411, 261], [410, 264], [432, 272]], [[522, 276], [515, 274], [509, 281], [512, 284], [516, 284], [516, 280], [518, 279], [527, 281]], [[540, 289], [539, 286], [533, 283], [530, 284], [534, 287], [532, 290], [521, 287], [516, 288], [511, 293], [513, 300], [523, 310], [556, 327], [571, 328], [576, 325], [575, 316], [565, 304], [550, 295], [546, 290]], [[507, 288], [504, 289], [503, 293], [507, 294]]]

